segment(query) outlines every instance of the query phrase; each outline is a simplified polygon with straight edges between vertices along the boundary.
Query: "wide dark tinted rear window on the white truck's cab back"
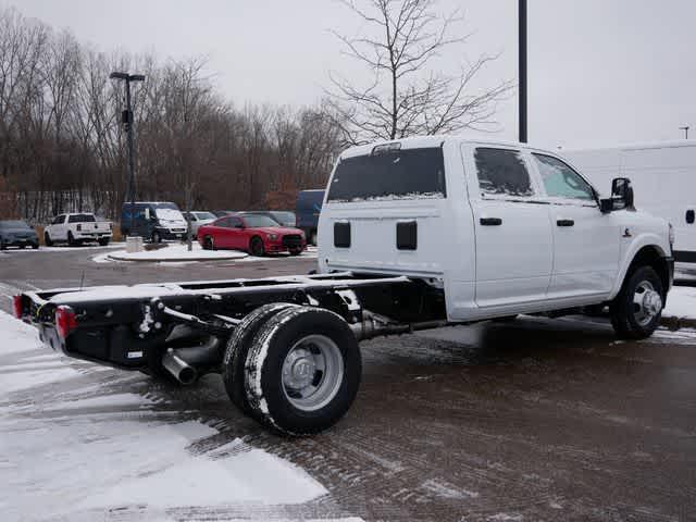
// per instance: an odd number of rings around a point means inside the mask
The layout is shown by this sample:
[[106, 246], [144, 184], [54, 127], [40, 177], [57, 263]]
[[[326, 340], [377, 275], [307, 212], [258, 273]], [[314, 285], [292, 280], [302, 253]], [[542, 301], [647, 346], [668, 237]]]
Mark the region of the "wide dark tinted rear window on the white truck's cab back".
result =
[[327, 201], [444, 198], [445, 164], [438, 148], [405, 149], [346, 158], [338, 163]]

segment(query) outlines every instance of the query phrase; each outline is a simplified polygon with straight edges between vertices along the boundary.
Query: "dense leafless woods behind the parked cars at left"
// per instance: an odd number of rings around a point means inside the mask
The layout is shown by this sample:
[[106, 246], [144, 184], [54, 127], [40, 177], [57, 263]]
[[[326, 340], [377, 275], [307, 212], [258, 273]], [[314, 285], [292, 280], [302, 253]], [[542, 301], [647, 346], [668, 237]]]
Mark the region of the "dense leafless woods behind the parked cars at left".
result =
[[0, 10], [0, 217], [66, 211], [116, 219], [127, 197], [124, 86], [133, 84], [136, 196], [183, 208], [293, 208], [322, 187], [341, 147], [325, 107], [234, 107], [204, 59], [105, 53], [15, 9]]

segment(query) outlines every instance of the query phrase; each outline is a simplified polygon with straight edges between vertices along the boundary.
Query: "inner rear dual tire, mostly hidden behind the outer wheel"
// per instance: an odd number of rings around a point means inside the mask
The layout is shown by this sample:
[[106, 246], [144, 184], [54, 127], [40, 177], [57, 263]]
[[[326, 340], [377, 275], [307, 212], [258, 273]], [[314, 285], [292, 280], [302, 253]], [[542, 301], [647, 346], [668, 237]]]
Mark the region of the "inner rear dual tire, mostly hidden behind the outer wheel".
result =
[[[289, 302], [274, 302], [257, 308], [241, 320], [227, 341], [227, 349], [223, 359], [222, 378], [229, 400], [245, 415], [253, 417], [253, 410], [249, 406], [245, 387], [245, 364], [251, 343], [261, 326], [273, 315], [295, 306]], [[258, 420], [261, 421], [261, 419]]]

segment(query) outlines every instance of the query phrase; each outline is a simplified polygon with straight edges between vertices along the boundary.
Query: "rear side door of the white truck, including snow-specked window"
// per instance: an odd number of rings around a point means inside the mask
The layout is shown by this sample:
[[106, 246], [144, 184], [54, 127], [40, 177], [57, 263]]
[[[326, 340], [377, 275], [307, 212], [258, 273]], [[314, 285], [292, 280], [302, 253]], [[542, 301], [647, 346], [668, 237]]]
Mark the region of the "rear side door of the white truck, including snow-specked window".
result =
[[[464, 146], [475, 235], [475, 302], [485, 315], [533, 310], [546, 299], [554, 245], [529, 154]], [[526, 307], [526, 308], [525, 308]]]

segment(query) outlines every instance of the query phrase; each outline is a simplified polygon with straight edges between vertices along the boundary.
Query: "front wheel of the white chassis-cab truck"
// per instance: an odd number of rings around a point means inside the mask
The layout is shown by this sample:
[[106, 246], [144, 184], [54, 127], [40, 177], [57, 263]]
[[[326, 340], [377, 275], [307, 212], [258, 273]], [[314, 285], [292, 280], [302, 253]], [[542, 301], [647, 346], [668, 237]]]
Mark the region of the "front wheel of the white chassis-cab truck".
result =
[[633, 271], [609, 307], [611, 325], [623, 339], [644, 339], [660, 323], [664, 307], [664, 288], [651, 266]]

